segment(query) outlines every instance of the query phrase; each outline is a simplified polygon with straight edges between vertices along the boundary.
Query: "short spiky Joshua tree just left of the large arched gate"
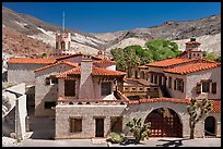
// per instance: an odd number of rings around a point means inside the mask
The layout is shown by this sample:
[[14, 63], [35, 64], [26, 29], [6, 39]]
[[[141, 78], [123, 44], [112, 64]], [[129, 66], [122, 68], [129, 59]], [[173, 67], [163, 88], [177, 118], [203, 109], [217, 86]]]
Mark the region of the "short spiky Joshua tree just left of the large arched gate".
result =
[[141, 117], [133, 117], [126, 124], [126, 126], [130, 127], [130, 132], [133, 133], [136, 144], [140, 142], [140, 140], [144, 140], [144, 138], [149, 139], [149, 133], [151, 127], [150, 122], [143, 124]]

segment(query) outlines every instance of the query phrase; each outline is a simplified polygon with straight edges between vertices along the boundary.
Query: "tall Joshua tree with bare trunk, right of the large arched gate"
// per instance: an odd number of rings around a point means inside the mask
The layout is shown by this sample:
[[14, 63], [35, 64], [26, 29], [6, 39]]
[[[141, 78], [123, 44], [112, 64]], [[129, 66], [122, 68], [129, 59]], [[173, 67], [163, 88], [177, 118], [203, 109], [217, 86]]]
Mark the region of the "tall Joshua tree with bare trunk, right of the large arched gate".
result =
[[190, 139], [193, 139], [195, 136], [195, 126], [196, 124], [208, 114], [212, 109], [211, 103], [208, 102], [208, 99], [202, 99], [197, 101], [197, 99], [190, 100], [190, 105], [187, 107], [187, 111], [190, 115], [189, 126], [190, 126]]

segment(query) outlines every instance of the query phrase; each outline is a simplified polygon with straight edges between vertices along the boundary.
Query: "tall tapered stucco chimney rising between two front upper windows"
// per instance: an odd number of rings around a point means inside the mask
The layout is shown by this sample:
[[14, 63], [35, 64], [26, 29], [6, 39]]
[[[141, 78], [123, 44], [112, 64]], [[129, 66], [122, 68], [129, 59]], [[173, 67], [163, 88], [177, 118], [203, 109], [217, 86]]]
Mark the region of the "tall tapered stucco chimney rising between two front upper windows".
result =
[[83, 54], [81, 60], [81, 80], [79, 99], [94, 99], [92, 65], [92, 57]]

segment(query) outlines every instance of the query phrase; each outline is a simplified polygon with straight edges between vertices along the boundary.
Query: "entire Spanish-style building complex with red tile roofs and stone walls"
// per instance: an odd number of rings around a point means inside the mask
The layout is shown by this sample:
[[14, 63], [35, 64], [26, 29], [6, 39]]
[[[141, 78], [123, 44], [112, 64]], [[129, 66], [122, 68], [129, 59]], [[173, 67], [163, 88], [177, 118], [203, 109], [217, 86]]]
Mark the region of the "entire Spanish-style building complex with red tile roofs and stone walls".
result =
[[195, 137], [221, 136], [221, 64], [202, 59], [196, 40], [186, 44], [179, 58], [139, 66], [140, 79], [126, 78], [108, 59], [61, 53], [69, 41], [57, 44], [52, 58], [8, 62], [8, 80], [26, 83], [35, 116], [55, 119], [55, 139], [128, 135], [126, 124], [132, 117], [151, 122], [151, 137], [187, 138], [191, 98], [212, 103], [212, 111], [196, 125]]

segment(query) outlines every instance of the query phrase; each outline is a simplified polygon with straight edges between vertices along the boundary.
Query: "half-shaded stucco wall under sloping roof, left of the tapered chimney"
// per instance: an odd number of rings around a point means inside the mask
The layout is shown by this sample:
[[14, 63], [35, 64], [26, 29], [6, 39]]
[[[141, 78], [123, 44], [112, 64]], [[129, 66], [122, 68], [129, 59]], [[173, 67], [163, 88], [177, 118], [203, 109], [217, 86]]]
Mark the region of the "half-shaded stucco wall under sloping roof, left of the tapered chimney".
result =
[[45, 85], [46, 77], [70, 70], [72, 66], [60, 64], [35, 74], [35, 115], [36, 116], [55, 116], [55, 110], [45, 109], [45, 101], [57, 101], [58, 99], [58, 84]]

